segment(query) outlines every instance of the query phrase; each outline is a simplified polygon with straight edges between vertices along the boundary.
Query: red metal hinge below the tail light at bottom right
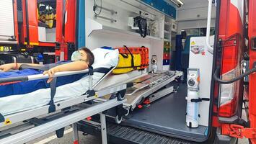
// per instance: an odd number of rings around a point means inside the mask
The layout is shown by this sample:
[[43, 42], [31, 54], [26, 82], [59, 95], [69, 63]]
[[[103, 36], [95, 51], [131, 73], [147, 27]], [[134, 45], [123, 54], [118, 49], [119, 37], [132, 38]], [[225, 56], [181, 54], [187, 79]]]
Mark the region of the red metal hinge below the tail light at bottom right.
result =
[[256, 138], [256, 129], [244, 128], [242, 125], [230, 125], [229, 135], [234, 138]]

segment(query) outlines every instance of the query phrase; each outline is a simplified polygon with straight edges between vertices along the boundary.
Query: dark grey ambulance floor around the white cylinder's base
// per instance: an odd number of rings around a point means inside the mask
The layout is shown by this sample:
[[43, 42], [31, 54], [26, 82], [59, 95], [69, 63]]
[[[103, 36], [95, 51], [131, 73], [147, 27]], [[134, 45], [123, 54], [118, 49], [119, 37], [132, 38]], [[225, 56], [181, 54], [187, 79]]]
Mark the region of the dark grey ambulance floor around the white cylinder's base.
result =
[[189, 128], [185, 124], [187, 86], [179, 85], [177, 93], [164, 96], [149, 107], [134, 110], [122, 124], [170, 137], [206, 138], [208, 127]]

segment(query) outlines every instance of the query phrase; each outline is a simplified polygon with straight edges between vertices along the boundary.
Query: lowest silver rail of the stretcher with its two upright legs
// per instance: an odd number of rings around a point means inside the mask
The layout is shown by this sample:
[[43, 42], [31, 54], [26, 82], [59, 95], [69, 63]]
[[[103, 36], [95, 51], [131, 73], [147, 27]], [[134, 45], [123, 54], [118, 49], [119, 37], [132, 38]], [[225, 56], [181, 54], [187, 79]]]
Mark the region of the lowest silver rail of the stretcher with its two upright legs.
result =
[[[14, 135], [9, 135], [8, 132], [6, 133], [6, 137], [0, 139], [1, 144], [19, 144], [19, 143], [27, 143], [30, 140], [34, 140], [35, 138], [40, 138], [43, 135], [46, 135], [50, 132], [54, 132], [57, 130], [63, 129], [68, 125], [72, 125], [73, 127], [73, 137], [74, 143], [78, 143], [78, 128], [76, 127], [76, 122], [80, 120], [84, 120], [86, 117], [91, 117], [94, 114], [100, 113], [100, 127], [101, 127], [101, 134], [102, 134], [102, 143], [107, 143], [107, 133], [106, 133], [106, 121], [105, 121], [105, 114], [104, 112], [107, 109], [111, 109], [112, 107], [117, 107], [120, 104], [123, 104], [125, 100], [118, 100], [118, 98], [111, 99], [107, 102], [103, 102], [101, 104], [96, 104], [95, 106], [86, 108], [86, 109], [79, 109], [77, 112], [72, 114], [63, 114], [63, 117], [59, 117], [56, 120], [52, 120], [50, 122], [46, 122], [42, 125], [38, 125], [36, 127], [32, 127], [28, 130], [22, 130], [21, 132], [17, 132]], [[22, 127], [19, 127], [21, 129]], [[12, 127], [14, 130], [14, 127]], [[6, 129], [9, 130], [9, 129]], [[4, 132], [4, 131], [1, 131]], [[58, 134], [57, 134], [58, 135]]]

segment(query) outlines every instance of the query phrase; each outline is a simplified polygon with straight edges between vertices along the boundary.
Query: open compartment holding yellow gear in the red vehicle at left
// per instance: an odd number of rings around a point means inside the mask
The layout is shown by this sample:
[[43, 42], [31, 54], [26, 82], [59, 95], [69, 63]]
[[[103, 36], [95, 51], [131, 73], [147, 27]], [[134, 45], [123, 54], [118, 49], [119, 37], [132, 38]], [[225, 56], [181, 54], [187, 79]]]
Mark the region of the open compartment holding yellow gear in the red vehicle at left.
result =
[[38, 38], [40, 42], [56, 42], [56, 0], [37, 0]]

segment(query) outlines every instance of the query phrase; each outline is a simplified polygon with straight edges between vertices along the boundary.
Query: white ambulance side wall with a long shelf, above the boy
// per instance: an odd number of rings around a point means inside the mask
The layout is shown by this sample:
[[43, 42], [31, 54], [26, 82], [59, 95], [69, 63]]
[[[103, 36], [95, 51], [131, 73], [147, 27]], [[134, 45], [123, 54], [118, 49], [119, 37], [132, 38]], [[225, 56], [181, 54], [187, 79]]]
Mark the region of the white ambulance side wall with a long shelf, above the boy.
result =
[[[97, 4], [100, 4], [100, 0], [96, 0]], [[126, 1], [130, 4], [126, 4], [122, 0], [102, 0], [102, 6], [107, 9], [114, 9], [118, 14], [110, 14], [105, 10], [102, 10], [100, 16], [109, 17], [112, 19], [116, 19], [117, 22], [110, 22], [105, 19], [94, 18], [94, 12], [92, 10], [94, 5], [94, 0], [86, 0], [86, 21], [88, 22], [90, 19], [102, 24], [106, 27], [113, 27], [119, 30], [127, 30], [130, 31], [131, 28], [128, 27], [128, 17], [136, 17], [138, 16], [138, 12], [142, 10], [144, 12], [149, 12], [149, 16], [152, 19], [159, 19], [159, 30], [162, 31], [162, 34], [159, 37], [163, 37], [163, 29], [164, 29], [164, 15], [156, 12], [150, 8], [146, 8], [140, 3], [136, 3], [136, 1]], [[149, 48], [149, 57], [151, 60], [151, 55], [157, 55], [158, 58], [158, 67], [162, 69], [162, 57], [163, 57], [163, 40], [154, 40], [150, 38], [142, 38], [138, 35], [128, 35], [125, 32], [107, 32], [105, 30], [94, 31], [89, 34], [88, 27], [89, 24], [86, 22], [86, 46], [89, 49], [100, 48], [102, 46], [110, 46], [112, 48], [121, 47], [126, 45], [128, 47], [141, 47], [145, 46]], [[150, 68], [150, 67], [149, 67]]]

